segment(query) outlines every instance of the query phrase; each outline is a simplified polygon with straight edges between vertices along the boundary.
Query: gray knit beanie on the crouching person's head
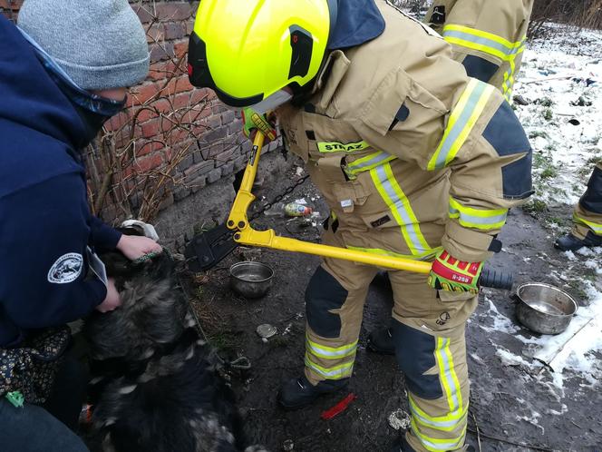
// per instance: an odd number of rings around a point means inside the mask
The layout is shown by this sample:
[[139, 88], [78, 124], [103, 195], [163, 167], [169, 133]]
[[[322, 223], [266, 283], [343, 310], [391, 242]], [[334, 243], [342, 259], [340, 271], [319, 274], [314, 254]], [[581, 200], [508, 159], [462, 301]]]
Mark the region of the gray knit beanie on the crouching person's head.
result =
[[18, 25], [84, 90], [149, 74], [146, 35], [127, 0], [25, 0]]

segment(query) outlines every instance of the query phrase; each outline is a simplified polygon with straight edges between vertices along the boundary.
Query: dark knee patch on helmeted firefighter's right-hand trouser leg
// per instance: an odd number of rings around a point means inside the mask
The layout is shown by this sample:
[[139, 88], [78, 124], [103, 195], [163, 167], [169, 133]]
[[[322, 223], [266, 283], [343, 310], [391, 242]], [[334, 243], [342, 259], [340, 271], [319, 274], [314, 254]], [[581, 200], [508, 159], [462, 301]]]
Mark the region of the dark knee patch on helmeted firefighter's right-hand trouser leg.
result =
[[436, 364], [436, 339], [430, 334], [393, 320], [393, 341], [397, 363], [405, 375], [408, 389], [419, 398], [442, 398], [439, 376], [424, 375], [424, 372]]

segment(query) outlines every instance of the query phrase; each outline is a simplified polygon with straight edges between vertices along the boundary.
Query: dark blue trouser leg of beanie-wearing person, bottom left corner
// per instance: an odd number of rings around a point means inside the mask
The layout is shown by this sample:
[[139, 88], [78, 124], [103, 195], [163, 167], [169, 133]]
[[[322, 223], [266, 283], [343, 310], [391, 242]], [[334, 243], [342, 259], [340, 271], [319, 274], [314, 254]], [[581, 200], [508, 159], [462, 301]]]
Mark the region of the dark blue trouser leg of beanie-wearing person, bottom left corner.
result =
[[44, 408], [15, 408], [0, 398], [0, 449], [3, 452], [87, 452], [77, 437]]

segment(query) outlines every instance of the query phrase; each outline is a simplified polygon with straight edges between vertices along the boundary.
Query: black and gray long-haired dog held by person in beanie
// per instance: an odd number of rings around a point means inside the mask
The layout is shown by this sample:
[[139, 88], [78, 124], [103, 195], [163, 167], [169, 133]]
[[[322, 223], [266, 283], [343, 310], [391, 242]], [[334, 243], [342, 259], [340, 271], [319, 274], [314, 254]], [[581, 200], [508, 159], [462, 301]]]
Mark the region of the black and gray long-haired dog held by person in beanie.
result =
[[218, 359], [199, 337], [165, 253], [134, 265], [105, 254], [121, 308], [95, 314], [92, 450], [103, 452], [261, 452], [247, 447]]

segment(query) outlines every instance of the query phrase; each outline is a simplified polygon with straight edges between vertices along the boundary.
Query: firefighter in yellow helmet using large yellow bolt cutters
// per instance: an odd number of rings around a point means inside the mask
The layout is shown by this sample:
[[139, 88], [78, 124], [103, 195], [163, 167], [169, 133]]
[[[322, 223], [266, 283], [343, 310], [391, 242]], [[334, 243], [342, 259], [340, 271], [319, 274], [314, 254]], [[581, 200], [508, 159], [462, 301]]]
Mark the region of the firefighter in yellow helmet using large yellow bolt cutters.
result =
[[[413, 417], [393, 450], [470, 450], [465, 324], [508, 209], [532, 192], [529, 141], [509, 103], [381, 0], [204, 0], [189, 74], [246, 108], [247, 131], [268, 129], [259, 113], [276, 108], [331, 208], [326, 244], [433, 262], [428, 277], [389, 271]], [[377, 271], [335, 259], [316, 270], [305, 371], [279, 391], [284, 408], [348, 384]]]

